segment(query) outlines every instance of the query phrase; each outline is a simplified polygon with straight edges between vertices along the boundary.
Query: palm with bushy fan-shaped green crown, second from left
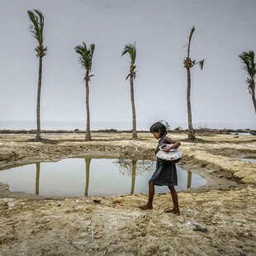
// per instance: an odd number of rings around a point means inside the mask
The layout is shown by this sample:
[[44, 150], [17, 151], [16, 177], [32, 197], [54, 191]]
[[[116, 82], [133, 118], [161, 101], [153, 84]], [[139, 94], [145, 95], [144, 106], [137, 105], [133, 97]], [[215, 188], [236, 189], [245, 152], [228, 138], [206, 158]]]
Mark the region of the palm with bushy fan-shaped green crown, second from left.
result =
[[88, 48], [83, 42], [83, 45], [77, 45], [74, 50], [78, 53], [79, 62], [82, 64], [83, 69], [85, 70], [83, 81], [85, 81], [85, 88], [86, 88], [86, 114], [87, 114], [87, 121], [86, 121], [86, 134], [85, 140], [91, 140], [91, 130], [90, 130], [90, 110], [89, 110], [89, 82], [91, 81], [91, 77], [93, 74], [90, 74], [92, 70], [92, 56], [94, 53], [95, 45], [92, 44]]

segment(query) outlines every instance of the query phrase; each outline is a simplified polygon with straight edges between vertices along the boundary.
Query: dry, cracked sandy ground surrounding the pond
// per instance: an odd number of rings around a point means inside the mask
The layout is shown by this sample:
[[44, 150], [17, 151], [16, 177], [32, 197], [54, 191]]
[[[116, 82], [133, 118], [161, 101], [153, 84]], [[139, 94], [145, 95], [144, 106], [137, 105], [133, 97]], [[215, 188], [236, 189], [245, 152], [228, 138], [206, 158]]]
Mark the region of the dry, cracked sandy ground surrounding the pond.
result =
[[[203, 135], [181, 140], [179, 164], [207, 184], [178, 192], [181, 216], [164, 213], [169, 194], [156, 195], [152, 211], [138, 206], [146, 195], [45, 198], [0, 185], [0, 255], [255, 255], [255, 136]], [[154, 159], [150, 134], [0, 135], [0, 170], [71, 157]], [[94, 200], [100, 201], [95, 202]], [[204, 232], [205, 231], [205, 232]]]

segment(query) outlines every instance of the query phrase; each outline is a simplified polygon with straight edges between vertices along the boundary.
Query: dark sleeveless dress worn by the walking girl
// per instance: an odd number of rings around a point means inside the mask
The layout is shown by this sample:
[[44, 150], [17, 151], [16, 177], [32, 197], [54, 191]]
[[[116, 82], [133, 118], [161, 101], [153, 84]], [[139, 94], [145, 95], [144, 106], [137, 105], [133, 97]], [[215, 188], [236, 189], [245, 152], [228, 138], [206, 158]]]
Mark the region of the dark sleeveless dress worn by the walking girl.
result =
[[[163, 143], [168, 144], [166, 136], [159, 140], [159, 146]], [[154, 185], [157, 186], [177, 186], [178, 178], [176, 165], [173, 162], [157, 159], [156, 169], [149, 179], [149, 183], [154, 183]]]

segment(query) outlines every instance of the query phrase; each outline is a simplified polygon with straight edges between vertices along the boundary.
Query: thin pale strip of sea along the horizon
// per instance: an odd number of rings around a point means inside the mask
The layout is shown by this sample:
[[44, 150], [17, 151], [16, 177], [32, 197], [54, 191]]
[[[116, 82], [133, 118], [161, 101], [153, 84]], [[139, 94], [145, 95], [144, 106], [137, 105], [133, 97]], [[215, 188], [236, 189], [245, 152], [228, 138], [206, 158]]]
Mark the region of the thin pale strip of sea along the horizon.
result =
[[[137, 121], [137, 130], [149, 130], [152, 121]], [[131, 130], [131, 121], [91, 121], [91, 130]], [[170, 129], [187, 129], [185, 122], [168, 122]], [[41, 130], [85, 130], [86, 121], [40, 121]], [[207, 123], [194, 122], [193, 128], [207, 129], [251, 129], [256, 130], [256, 123]], [[0, 130], [34, 130], [36, 121], [0, 121]]]

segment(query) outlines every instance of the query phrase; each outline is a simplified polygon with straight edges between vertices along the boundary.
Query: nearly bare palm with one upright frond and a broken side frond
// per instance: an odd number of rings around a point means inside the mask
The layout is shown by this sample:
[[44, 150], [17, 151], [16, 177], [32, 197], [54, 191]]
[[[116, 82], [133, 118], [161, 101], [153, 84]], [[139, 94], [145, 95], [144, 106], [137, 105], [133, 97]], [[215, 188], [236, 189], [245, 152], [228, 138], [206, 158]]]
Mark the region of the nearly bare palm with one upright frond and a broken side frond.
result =
[[203, 68], [203, 64], [205, 59], [201, 59], [200, 61], [196, 61], [196, 59], [190, 59], [190, 43], [192, 39], [192, 35], [195, 31], [195, 26], [192, 27], [187, 45], [187, 57], [183, 60], [184, 68], [187, 69], [187, 119], [188, 119], [188, 140], [195, 140], [196, 136], [194, 134], [193, 126], [192, 126], [192, 112], [191, 112], [191, 103], [190, 103], [190, 90], [191, 90], [191, 75], [190, 69], [199, 64], [200, 68]]

